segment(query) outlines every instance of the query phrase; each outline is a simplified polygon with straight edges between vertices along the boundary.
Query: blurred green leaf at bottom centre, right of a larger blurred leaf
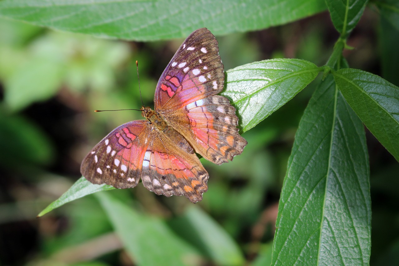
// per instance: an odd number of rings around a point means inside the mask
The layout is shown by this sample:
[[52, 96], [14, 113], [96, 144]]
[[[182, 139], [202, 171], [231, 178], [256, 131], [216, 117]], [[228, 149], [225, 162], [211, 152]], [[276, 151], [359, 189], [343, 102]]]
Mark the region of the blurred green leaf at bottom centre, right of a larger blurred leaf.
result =
[[243, 265], [243, 254], [234, 240], [207, 213], [192, 206], [172, 224], [217, 265]]

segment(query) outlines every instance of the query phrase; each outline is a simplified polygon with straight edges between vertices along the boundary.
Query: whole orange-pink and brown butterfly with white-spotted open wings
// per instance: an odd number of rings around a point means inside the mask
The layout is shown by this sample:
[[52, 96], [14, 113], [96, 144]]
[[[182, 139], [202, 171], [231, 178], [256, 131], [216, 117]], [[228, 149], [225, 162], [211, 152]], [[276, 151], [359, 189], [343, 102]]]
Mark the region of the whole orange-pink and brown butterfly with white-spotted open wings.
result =
[[231, 161], [247, 141], [224, 86], [215, 36], [198, 29], [183, 42], [162, 73], [155, 110], [142, 106], [146, 120], [120, 125], [83, 159], [82, 175], [93, 184], [119, 189], [144, 187], [157, 195], [202, 200], [209, 174], [196, 153], [215, 164]]

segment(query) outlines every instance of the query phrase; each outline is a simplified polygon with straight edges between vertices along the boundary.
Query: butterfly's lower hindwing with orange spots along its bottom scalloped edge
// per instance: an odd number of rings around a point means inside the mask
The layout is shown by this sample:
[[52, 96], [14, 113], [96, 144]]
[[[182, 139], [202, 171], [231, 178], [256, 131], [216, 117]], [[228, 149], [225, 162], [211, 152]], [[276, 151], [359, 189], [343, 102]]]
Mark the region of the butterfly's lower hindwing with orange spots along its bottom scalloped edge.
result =
[[144, 156], [142, 182], [158, 195], [184, 195], [196, 203], [208, 189], [209, 175], [187, 141], [184, 146], [181, 149], [163, 132], [152, 131]]

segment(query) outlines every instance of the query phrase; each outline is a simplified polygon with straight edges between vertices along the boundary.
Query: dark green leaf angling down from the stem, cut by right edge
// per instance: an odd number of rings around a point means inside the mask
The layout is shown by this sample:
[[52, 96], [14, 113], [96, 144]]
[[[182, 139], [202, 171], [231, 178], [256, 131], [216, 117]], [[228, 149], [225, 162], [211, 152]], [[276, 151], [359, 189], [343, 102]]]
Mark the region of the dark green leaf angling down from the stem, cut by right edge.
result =
[[334, 79], [366, 127], [399, 161], [399, 87], [351, 68], [335, 72]]

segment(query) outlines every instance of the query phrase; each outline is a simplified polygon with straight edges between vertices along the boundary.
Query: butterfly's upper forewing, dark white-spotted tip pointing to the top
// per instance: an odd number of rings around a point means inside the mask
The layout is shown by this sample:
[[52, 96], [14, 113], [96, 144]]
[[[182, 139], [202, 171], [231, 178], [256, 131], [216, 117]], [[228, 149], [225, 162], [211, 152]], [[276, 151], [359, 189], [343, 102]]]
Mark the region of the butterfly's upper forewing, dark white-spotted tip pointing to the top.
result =
[[219, 93], [223, 89], [224, 72], [218, 53], [217, 40], [207, 28], [190, 34], [158, 81], [155, 109], [176, 109]]

